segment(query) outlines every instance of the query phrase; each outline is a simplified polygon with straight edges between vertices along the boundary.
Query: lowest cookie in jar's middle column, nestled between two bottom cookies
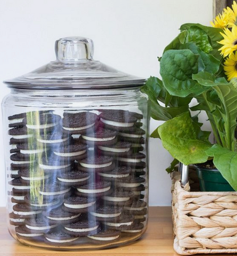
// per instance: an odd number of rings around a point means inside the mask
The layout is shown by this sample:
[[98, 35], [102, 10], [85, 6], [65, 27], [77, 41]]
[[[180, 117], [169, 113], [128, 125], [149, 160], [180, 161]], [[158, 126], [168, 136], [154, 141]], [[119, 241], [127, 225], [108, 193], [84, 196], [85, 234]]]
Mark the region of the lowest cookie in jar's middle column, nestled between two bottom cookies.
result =
[[99, 222], [95, 220], [80, 220], [63, 226], [67, 234], [75, 236], [95, 235], [100, 231]]

